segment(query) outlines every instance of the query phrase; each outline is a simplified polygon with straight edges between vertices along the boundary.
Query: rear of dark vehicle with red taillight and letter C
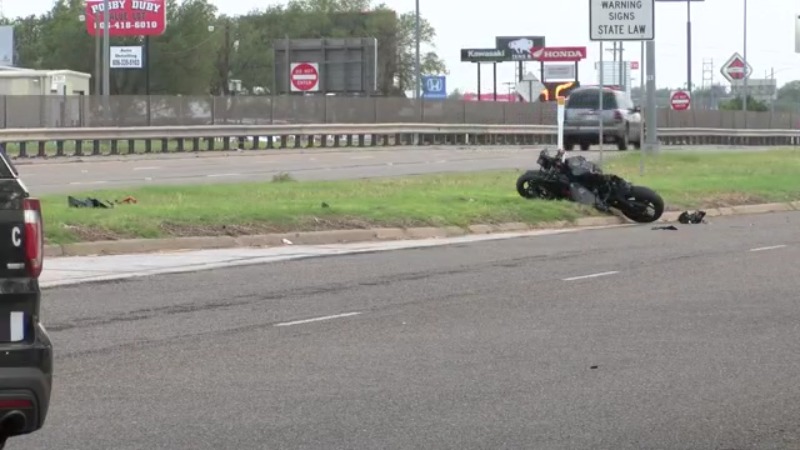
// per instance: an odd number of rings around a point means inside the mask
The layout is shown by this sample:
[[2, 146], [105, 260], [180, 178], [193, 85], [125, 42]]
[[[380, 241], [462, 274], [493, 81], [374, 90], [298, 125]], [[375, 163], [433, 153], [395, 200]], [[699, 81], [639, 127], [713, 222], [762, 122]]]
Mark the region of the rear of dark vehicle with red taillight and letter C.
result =
[[44, 227], [11, 160], [0, 151], [0, 449], [44, 425], [53, 347], [39, 321]]

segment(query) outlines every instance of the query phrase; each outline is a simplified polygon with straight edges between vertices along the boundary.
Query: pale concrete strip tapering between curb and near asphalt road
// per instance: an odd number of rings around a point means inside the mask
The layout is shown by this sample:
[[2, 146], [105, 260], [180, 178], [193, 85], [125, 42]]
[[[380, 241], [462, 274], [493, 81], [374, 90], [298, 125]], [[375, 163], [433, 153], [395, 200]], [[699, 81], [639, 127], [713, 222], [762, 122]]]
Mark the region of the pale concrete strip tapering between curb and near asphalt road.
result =
[[[619, 226], [619, 225], [617, 225]], [[432, 247], [437, 245], [512, 239], [571, 233], [587, 229], [537, 230], [522, 233], [469, 235], [454, 238], [423, 239], [389, 242], [364, 242], [334, 245], [285, 245], [282, 247], [247, 247], [220, 250], [193, 250], [147, 253], [137, 255], [74, 256], [45, 259], [40, 278], [42, 288], [120, 280], [167, 273], [194, 272], [247, 264], [263, 264], [315, 256]]]

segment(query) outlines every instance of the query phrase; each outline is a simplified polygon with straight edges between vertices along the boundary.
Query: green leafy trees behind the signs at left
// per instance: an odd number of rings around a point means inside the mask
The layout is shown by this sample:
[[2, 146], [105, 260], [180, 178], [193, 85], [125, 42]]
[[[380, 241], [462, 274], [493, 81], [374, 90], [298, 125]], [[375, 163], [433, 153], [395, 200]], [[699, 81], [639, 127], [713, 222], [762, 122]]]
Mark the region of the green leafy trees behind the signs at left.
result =
[[[95, 71], [96, 40], [80, 20], [84, 0], [56, 0], [50, 11], [3, 18], [13, 25], [15, 62], [30, 69]], [[421, 18], [422, 72], [447, 73], [434, 47], [436, 32]], [[152, 95], [226, 95], [230, 79], [249, 92], [273, 86], [273, 41], [284, 38], [374, 37], [379, 95], [402, 96], [414, 86], [415, 16], [371, 0], [292, 0], [287, 5], [227, 16], [207, 0], [167, 0], [167, 29], [150, 38]], [[111, 38], [141, 45], [142, 38]], [[112, 70], [112, 95], [141, 95], [144, 70]], [[254, 89], [254, 88], [263, 89]], [[94, 93], [94, 87], [92, 88]]]

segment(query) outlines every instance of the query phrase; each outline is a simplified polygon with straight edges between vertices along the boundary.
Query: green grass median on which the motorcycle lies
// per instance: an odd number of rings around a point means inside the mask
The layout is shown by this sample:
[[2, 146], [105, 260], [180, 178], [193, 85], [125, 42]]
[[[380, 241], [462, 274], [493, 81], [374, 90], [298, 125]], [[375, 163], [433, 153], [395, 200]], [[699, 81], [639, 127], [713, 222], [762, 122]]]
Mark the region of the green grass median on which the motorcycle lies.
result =
[[[577, 153], [577, 152], [576, 152]], [[650, 186], [671, 209], [800, 199], [800, 151], [666, 153], [608, 158], [605, 170]], [[597, 212], [568, 202], [524, 200], [519, 171], [373, 180], [142, 187], [75, 195], [134, 196], [114, 209], [68, 208], [66, 196], [43, 198], [49, 243], [375, 226], [466, 226], [573, 220]], [[24, 176], [24, 174], [23, 174]]]

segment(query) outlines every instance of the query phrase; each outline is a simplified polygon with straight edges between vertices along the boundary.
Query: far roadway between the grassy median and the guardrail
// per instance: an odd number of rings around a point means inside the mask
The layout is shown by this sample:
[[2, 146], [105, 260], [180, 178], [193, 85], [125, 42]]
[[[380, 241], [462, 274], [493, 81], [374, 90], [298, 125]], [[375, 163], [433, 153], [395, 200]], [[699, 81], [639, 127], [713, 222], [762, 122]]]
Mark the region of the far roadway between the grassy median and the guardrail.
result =
[[[388, 150], [214, 152], [195, 155], [86, 157], [78, 163], [42, 160], [19, 164], [36, 194], [80, 192], [148, 184], [196, 184], [270, 180], [281, 172], [298, 180], [334, 180], [436, 172], [536, 167], [543, 147], [432, 147]], [[683, 147], [670, 147], [683, 148]], [[703, 147], [728, 149], [728, 147]], [[738, 148], [738, 150], [763, 148]], [[605, 149], [604, 156], [622, 152]], [[599, 151], [575, 152], [598, 159]]]

